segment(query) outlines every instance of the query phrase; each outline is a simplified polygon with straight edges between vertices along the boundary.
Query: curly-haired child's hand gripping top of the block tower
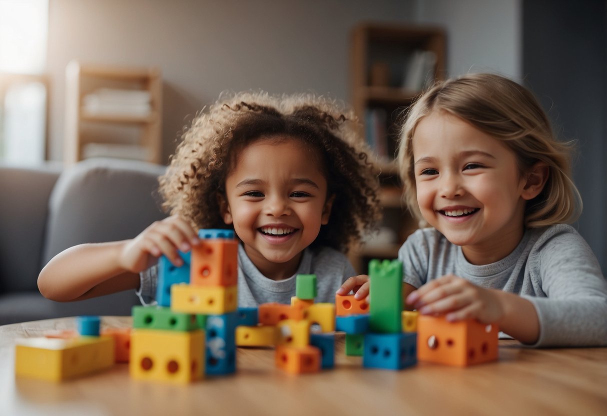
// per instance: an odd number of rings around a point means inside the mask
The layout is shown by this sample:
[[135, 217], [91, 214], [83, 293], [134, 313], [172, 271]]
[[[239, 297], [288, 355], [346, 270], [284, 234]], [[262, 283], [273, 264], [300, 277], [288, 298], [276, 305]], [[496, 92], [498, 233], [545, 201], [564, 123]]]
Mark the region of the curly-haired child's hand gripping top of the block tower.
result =
[[139, 273], [155, 263], [156, 258], [165, 255], [171, 263], [180, 267], [183, 260], [178, 250], [188, 252], [197, 245], [197, 233], [188, 221], [173, 215], [162, 221], [155, 221], [133, 240], [127, 241], [120, 253], [120, 265], [133, 273]]

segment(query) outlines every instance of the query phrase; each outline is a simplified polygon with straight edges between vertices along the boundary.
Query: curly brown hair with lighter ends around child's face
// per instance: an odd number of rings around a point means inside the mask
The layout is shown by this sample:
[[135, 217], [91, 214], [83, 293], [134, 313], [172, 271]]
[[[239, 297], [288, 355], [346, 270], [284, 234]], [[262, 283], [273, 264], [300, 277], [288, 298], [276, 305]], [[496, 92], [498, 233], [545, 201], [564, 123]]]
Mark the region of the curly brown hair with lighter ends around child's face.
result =
[[360, 130], [350, 109], [323, 96], [222, 94], [194, 118], [160, 176], [163, 208], [197, 228], [226, 228], [219, 195], [239, 152], [260, 138], [288, 136], [322, 156], [327, 198], [334, 196], [328, 224], [311, 246], [347, 252], [381, 214], [378, 177]]

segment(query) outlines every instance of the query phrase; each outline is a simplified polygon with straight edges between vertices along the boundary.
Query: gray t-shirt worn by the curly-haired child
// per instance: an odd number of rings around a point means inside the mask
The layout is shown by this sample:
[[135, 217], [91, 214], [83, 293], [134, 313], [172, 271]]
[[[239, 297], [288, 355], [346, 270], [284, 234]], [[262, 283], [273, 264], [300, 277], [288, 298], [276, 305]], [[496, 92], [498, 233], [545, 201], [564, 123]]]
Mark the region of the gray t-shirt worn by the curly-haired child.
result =
[[[350, 260], [330, 247], [305, 249], [297, 272], [284, 280], [272, 280], [257, 269], [246, 255], [242, 244], [238, 249], [238, 306], [257, 307], [262, 303], [291, 303], [295, 296], [295, 281], [298, 274], [315, 274], [316, 302], [335, 301], [335, 292], [347, 278], [356, 275]], [[137, 295], [141, 303], [149, 304], [156, 296], [158, 267], [152, 266], [140, 273], [140, 288]]]

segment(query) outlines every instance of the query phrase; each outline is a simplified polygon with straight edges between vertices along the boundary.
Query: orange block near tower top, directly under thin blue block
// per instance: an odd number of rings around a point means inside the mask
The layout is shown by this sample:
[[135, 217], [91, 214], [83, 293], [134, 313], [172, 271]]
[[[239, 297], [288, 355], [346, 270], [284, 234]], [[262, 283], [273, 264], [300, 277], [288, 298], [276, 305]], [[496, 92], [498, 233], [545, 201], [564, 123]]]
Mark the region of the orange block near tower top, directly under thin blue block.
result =
[[201, 240], [192, 248], [190, 284], [192, 286], [236, 286], [238, 281], [238, 242]]

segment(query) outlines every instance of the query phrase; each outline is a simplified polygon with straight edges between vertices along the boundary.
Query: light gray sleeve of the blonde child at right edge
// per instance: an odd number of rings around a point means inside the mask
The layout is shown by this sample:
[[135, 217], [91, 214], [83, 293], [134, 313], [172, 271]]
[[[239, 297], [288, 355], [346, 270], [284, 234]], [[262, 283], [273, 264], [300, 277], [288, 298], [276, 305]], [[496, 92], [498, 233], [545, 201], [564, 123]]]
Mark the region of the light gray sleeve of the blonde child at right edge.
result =
[[529, 262], [547, 298], [523, 295], [540, 320], [534, 346], [607, 345], [607, 283], [591, 248], [571, 227], [542, 239]]

